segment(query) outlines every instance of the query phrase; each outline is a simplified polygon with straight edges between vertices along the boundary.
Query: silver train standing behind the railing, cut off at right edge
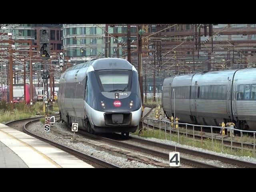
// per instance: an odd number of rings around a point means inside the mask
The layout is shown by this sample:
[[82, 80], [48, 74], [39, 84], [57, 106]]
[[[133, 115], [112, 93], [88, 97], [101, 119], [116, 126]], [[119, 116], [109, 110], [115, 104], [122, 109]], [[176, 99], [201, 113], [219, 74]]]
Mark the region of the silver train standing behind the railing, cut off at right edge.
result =
[[[180, 122], [256, 130], [256, 68], [171, 76], [164, 80], [162, 106]], [[175, 93], [174, 93], [175, 92]]]

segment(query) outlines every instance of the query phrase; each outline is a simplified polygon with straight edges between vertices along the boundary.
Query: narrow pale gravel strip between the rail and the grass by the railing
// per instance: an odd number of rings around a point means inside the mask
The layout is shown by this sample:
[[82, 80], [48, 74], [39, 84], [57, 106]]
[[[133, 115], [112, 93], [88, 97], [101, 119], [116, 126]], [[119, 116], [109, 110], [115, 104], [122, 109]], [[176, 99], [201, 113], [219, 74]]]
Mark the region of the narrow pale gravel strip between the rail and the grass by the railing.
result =
[[[137, 135], [130, 135], [130, 136], [135, 137], [135, 138], [141, 138], [140, 136], [137, 136]], [[188, 149], [192, 149], [192, 150], [206, 152], [209, 154], [220, 155], [220, 156], [224, 156], [224, 157], [228, 157], [228, 158], [234, 158], [234, 159], [238, 159], [238, 160], [256, 163], [256, 158], [252, 158], [252, 157], [246, 157], [246, 156], [239, 157], [239, 156], [234, 156], [234, 155], [230, 155], [230, 154], [217, 153], [217, 152], [206, 150], [206, 149], [201, 149], [201, 148], [197, 148], [197, 147], [193, 147], [193, 146], [178, 144], [176, 142], [169, 141], [169, 140], [160, 140], [160, 139], [156, 139], [156, 138], [143, 138], [143, 139], [160, 142], [160, 143], [164, 143], [164, 144], [170, 144], [170, 145], [176, 144], [176, 146], [183, 147], [183, 148], [188, 148]]]

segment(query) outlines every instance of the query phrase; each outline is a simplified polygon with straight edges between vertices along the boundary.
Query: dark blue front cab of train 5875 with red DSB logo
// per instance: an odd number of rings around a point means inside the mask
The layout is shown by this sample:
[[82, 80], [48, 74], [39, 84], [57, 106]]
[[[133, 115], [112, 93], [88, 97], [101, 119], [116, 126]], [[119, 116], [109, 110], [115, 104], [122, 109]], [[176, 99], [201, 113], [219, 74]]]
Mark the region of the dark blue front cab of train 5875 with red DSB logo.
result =
[[134, 70], [89, 72], [84, 105], [94, 131], [135, 132], [142, 113], [139, 90]]

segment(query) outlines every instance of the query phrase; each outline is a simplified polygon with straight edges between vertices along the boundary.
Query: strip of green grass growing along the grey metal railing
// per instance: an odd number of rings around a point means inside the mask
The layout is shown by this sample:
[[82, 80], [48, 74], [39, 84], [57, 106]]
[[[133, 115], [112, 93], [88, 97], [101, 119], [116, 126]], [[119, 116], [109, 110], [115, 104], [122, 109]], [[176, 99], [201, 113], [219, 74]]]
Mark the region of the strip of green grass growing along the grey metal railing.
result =
[[[159, 125], [159, 124], [158, 124]], [[162, 125], [161, 125], [162, 126]], [[163, 125], [164, 127], [164, 125]], [[133, 134], [139, 135], [139, 130], [136, 130]], [[243, 148], [243, 152], [241, 149], [234, 149], [231, 150], [231, 148], [224, 146], [223, 151], [222, 151], [222, 141], [218, 140], [213, 140], [213, 147], [212, 147], [212, 140], [211, 139], [205, 139], [205, 140], [198, 140], [193, 138], [186, 138], [186, 136], [181, 135], [179, 136], [178, 140], [178, 134], [176, 133], [171, 133], [170, 137], [170, 132], [166, 132], [164, 130], [159, 130], [158, 129], [148, 129], [148, 130], [143, 130], [143, 132], [140, 134], [141, 137], [146, 137], [146, 138], [157, 138], [157, 139], [166, 139], [166, 140], [171, 140], [174, 142], [179, 142], [180, 144], [188, 145], [188, 146], [194, 146], [210, 151], [215, 151], [219, 153], [224, 153], [224, 154], [231, 154], [235, 156], [249, 156], [249, 157], [254, 157], [254, 152], [252, 150], [248, 150], [247, 148]], [[243, 139], [244, 140], [244, 139]]]

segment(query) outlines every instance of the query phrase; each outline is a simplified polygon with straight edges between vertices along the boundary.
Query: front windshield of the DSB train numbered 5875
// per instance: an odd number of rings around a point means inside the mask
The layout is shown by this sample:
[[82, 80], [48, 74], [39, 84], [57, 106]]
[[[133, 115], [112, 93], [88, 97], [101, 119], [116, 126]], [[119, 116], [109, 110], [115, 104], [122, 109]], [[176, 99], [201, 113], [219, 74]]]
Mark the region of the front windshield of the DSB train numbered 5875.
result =
[[118, 92], [130, 90], [131, 71], [128, 70], [102, 70], [96, 71], [101, 89], [104, 92]]

